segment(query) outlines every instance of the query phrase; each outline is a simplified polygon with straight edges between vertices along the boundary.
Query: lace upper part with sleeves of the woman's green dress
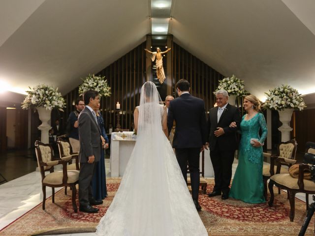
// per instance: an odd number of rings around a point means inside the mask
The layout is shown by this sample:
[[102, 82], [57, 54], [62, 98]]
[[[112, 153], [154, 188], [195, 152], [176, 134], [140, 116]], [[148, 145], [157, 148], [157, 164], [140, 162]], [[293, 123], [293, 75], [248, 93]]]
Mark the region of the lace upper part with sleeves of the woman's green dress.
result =
[[[241, 144], [240, 148], [245, 149], [249, 153], [249, 159], [253, 163], [260, 163], [257, 159], [260, 153], [262, 153], [262, 147], [254, 148], [252, 147], [250, 141], [252, 138], [258, 139], [258, 141], [263, 144], [267, 137], [267, 124], [264, 116], [261, 113], [257, 113], [253, 118], [245, 120], [246, 115], [243, 116], [241, 121]], [[261, 129], [261, 137], [259, 137], [259, 129]]]

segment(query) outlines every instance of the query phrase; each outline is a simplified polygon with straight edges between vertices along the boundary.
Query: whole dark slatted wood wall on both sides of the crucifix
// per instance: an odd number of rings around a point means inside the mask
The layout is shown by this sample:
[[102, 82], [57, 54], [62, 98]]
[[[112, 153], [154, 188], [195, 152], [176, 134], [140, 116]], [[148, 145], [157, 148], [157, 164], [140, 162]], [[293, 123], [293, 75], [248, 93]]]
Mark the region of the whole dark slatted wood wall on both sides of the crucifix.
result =
[[[171, 45], [172, 73], [170, 75], [172, 75], [172, 83], [170, 85], [171, 88], [168, 88], [168, 90], [176, 97], [175, 84], [177, 81], [182, 78], [189, 80], [191, 94], [204, 99], [206, 110], [209, 111], [215, 104], [213, 91], [218, 85], [218, 80], [222, 79], [223, 76], [176, 43]], [[101, 99], [101, 109], [107, 132], [110, 124], [113, 128], [116, 127], [115, 108], [117, 102], [121, 104], [120, 123], [122, 128], [133, 129], [133, 110], [139, 104], [140, 89], [147, 78], [146, 59], [150, 56], [146, 55], [145, 47], [146, 42], [143, 42], [125, 56], [97, 73], [97, 75], [106, 76], [112, 89], [110, 97]], [[74, 105], [72, 104], [78, 97], [78, 88], [73, 89], [64, 96], [66, 99], [66, 108], [63, 113], [64, 121], [67, 120], [69, 113], [74, 110]], [[161, 98], [162, 100], [165, 99], [165, 97]], [[66, 122], [63, 122], [63, 130], [65, 130], [65, 125]]]

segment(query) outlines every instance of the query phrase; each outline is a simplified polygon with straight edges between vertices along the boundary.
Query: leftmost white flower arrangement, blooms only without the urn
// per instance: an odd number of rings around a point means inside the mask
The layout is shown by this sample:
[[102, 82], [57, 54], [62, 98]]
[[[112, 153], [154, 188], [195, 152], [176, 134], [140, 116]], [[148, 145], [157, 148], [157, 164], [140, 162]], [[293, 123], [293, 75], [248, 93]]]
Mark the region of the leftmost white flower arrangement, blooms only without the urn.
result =
[[58, 108], [63, 111], [65, 102], [63, 96], [58, 92], [58, 88], [48, 85], [37, 85], [31, 90], [26, 91], [28, 95], [22, 103], [22, 109], [29, 109], [30, 107], [46, 107], [46, 110]]

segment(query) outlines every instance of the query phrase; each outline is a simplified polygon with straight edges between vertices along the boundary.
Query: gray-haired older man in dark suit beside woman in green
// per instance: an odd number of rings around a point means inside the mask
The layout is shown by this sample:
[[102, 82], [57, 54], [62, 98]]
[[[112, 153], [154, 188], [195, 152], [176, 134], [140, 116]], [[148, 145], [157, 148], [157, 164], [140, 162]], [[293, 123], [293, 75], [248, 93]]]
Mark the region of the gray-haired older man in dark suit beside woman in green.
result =
[[[232, 177], [232, 164], [237, 148], [236, 131], [240, 125], [241, 117], [237, 107], [227, 103], [226, 90], [216, 92], [217, 107], [210, 109], [207, 133], [210, 148], [210, 158], [215, 172], [215, 186], [209, 197], [221, 195], [223, 200], [228, 199], [229, 185]], [[229, 127], [231, 122], [236, 127]]]

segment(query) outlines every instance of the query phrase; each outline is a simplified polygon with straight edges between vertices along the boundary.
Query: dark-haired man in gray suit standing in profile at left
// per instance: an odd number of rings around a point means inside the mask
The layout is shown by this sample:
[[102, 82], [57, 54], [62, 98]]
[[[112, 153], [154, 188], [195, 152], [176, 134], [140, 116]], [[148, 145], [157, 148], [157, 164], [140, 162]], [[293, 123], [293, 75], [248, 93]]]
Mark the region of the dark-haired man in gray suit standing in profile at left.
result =
[[88, 90], [83, 95], [85, 108], [78, 117], [80, 140], [80, 174], [79, 174], [79, 203], [80, 211], [96, 213], [97, 208], [91, 205], [100, 205], [103, 201], [96, 201], [92, 196], [92, 177], [95, 162], [100, 159], [102, 141], [94, 110], [99, 102], [98, 92]]

